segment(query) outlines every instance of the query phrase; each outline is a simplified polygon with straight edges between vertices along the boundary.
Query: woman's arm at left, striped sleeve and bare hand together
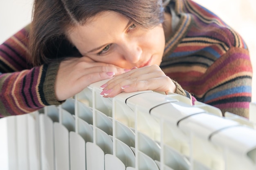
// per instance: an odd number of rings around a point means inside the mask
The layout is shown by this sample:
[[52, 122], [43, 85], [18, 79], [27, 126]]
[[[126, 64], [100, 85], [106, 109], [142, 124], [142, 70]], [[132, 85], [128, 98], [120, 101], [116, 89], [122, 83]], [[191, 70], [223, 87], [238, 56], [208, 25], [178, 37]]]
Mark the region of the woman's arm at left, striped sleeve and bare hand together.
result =
[[88, 57], [67, 58], [32, 67], [29, 26], [0, 45], [0, 117], [29, 113], [61, 102], [85, 87], [125, 70]]

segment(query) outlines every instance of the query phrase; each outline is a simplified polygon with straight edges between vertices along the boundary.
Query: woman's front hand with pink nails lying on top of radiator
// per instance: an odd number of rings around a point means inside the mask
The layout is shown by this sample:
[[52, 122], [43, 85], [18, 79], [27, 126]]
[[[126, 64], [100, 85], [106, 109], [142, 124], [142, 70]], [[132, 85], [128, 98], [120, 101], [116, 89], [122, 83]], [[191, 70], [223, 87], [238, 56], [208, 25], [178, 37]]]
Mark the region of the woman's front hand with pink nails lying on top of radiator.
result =
[[141, 90], [155, 90], [158, 92], [175, 92], [176, 86], [158, 65], [132, 69], [129, 72], [115, 76], [102, 85], [101, 95], [115, 97], [121, 92], [136, 92]]

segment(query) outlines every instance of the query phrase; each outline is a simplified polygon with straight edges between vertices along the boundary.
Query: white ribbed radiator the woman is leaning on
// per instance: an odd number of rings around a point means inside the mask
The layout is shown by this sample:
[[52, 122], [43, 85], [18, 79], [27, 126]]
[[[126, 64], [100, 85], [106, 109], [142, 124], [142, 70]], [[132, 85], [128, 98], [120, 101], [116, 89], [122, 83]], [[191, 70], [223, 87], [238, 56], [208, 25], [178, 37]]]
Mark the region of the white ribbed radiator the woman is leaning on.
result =
[[177, 94], [103, 98], [105, 82], [0, 119], [0, 170], [256, 170], [252, 121]]

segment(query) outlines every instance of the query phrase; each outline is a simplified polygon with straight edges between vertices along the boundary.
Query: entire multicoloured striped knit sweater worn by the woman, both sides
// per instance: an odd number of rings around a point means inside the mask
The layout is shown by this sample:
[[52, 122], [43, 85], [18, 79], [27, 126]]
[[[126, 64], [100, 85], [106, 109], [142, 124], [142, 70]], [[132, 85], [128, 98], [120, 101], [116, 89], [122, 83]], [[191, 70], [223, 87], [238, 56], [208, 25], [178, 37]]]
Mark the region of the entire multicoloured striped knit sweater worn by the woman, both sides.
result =
[[[162, 70], [186, 96], [248, 117], [252, 65], [247, 46], [219, 17], [191, 0], [176, 0], [180, 18], [166, 39]], [[29, 26], [0, 45], [0, 117], [58, 105], [54, 82], [59, 63], [33, 67], [28, 58]]]

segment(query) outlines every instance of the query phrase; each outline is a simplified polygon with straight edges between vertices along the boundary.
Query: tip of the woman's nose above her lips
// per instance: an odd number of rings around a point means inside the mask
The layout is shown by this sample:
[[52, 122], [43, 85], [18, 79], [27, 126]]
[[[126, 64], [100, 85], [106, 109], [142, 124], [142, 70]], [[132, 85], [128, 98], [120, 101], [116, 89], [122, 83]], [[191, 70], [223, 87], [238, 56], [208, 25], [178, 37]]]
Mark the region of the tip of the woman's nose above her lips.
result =
[[129, 63], [137, 63], [141, 57], [142, 49], [136, 43], [124, 47], [124, 58]]

